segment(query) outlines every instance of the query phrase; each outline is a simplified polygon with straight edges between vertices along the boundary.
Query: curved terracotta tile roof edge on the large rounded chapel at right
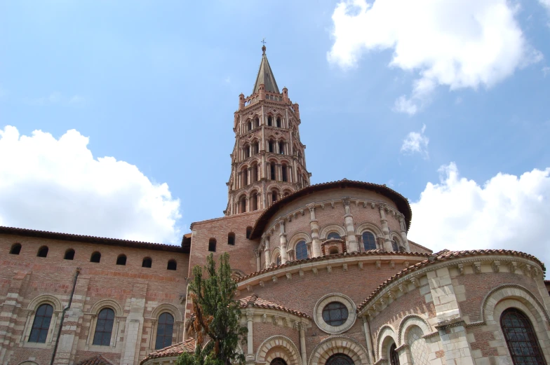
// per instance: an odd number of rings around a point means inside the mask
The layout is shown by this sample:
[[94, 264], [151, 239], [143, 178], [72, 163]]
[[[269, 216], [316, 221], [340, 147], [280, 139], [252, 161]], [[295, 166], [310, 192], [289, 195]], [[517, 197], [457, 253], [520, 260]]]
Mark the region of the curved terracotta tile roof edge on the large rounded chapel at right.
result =
[[519, 252], [514, 251], [510, 249], [473, 249], [469, 251], [449, 251], [448, 249], [443, 249], [440, 252], [437, 252], [436, 254], [429, 255], [429, 259], [420, 261], [419, 263], [415, 263], [414, 265], [409, 266], [408, 268], [405, 268], [401, 270], [399, 273], [396, 273], [396, 275], [389, 277], [385, 282], [380, 284], [375, 291], [373, 291], [370, 296], [368, 296], [363, 302], [361, 302], [360, 305], [357, 307], [357, 312], [361, 312], [365, 305], [368, 304], [368, 302], [373, 299], [377, 294], [382, 291], [385, 287], [387, 287], [391, 282], [394, 282], [398, 280], [400, 277], [403, 277], [405, 275], [408, 275], [416, 270], [420, 270], [421, 268], [424, 268], [429, 265], [434, 265], [436, 263], [441, 263], [442, 261], [448, 261], [452, 259], [460, 259], [464, 257], [469, 256], [488, 256], [488, 255], [506, 255], [506, 256], [521, 256], [525, 259], [530, 259], [532, 261], [535, 261], [538, 263], [543, 272], [546, 272], [546, 268], [544, 267], [544, 263], [542, 263], [539, 259], [537, 259], [535, 256], [532, 256], [530, 254], [525, 254], [525, 252]]

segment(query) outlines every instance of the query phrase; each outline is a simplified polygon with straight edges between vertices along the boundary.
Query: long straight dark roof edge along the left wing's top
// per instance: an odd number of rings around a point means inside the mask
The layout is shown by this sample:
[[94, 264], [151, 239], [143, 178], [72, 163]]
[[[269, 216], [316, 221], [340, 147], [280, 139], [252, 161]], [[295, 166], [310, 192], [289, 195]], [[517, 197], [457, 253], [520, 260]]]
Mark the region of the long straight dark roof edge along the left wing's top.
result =
[[119, 238], [95, 237], [91, 235], [74, 235], [71, 233], [49, 232], [47, 230], [34, 230], [34, 229], [27, 229], [27, 228], [0, 226], [0, 234], [1, 233], [4, 233], [6, 235], [21, 235], [25, 237], [48, 238], [50, 240], [78, 241], [78, 242], [87, 242], [87, 243], [97, 243], [101, 245], [136, 247], [140, 249], [156, 249], [156, 250], [169, 251], [169, 252], [183, 252], [183, 249], [180, 246], [165, 245], [162, 243], [120, 240]]

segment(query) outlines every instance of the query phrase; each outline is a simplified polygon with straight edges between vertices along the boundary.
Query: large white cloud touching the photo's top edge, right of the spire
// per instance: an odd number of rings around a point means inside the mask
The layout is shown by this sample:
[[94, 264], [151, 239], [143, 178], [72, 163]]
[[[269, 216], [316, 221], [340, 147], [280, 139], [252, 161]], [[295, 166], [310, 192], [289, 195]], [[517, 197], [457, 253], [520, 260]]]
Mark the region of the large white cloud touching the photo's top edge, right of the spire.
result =
[[327, 57], [345, 69], [356, 67], [365, 50], [393, 50], [389, 65], [418, 77], [395, 109], [413, 113], [438, 85], [490, 87], [541, 60], [514, 18], [518, 8], [507, 0], [341, 1]]

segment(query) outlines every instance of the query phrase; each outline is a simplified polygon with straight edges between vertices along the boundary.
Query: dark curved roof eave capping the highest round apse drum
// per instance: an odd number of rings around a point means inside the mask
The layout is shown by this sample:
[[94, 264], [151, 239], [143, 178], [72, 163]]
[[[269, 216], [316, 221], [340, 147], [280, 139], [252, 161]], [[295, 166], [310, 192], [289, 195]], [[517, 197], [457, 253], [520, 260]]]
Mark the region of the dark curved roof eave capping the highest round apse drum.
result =
[[250, 240], [260, 237], [262, 235], [264, 228], [271, 219], [272, 216], [276, 214], [282, 207], [284, 207], [289, 202], [301, 198], [304, 195], [309, 195], [315, 193], [316, 191], [323, 191], [331, 188], [362, 188], [368, 189], [370, 191], [375, 191], [381, 195], [390, 198], [397, 206], [397, 210], [405, 216], [405, 221], [407, 222], [407, 230], [410, 228], [410, 221], [412, 219], [412, 210], [410, 209], [409, 202], [407, 198], [403, 195], [394, 191], [394, 189], [388, 188], [386, 185], [373, 184], [364, 181], [354, 181], [348, 179], [342, 179], [338, 181], [330, 181], [322, 184], [314, 184], [295, 191], [294, 193], [287, 195], [285, 198], [277, 200], [271, 207], [267, 208], [266, 211], [257, 219], [252, 232], [250, 233]]

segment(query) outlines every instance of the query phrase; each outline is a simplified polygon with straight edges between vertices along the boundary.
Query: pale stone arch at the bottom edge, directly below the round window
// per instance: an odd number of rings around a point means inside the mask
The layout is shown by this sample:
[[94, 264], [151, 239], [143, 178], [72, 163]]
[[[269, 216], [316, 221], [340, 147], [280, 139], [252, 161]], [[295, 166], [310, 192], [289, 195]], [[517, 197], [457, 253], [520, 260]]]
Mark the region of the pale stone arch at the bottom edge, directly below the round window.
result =
[[367, 350], [361, 343], [346, 336], [331, 336], [314, 347], [308, 365], [325, 364], [331, 355], [337, 353], [351, 357], [356, 365], [369, 364]]

